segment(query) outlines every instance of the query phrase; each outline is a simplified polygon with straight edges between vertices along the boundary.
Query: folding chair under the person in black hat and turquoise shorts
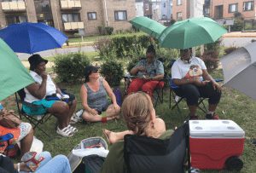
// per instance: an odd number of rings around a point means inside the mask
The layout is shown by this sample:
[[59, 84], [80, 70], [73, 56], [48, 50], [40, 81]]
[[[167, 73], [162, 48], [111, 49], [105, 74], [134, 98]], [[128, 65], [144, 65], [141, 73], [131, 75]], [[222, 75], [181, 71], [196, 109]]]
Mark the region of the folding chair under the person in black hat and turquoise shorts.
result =
[[[20, 96], [20, 101], [18, 99], [17, 93]], [[49, 120], [49, 118], [52, 115], [49, 114], [49, 112], [44, 113], [44, 115], [28, 115], [28, 114], [26, 114], [26, 112], [24, 112], [22, 110], [22, 107], [20, 107], [19, 102], [21, 102], [22, 104], [26, 104], [27, 107], [32, 107], [34, 109], [37, 109], [38, 107], [41, 107], [41, 106], [38, 106], [38, 105], [35, 105], [35, 104], [24, 101], [25, 96], [26, 96], [26, 93], [25, 93], [24, 89], [20, 89], [19, 91], [17, 91], [15, 93], [16, 104], [17, 104], [17, 107], [18, 107], [18, 112], [19, 112], [19, 115], [20, 115], [20, 119], [21, 119], [22, 116], [25, 117], [29, 121], [29, 123], [33, 125], [33, 130], [38, 128], [38, 130], [41, 130], [44, 133], [44, 135], [49, 136], [49, 134], [46, 133], [45, 130], [40, 128], [39, 125], [44, 124], [47, 120]]]

